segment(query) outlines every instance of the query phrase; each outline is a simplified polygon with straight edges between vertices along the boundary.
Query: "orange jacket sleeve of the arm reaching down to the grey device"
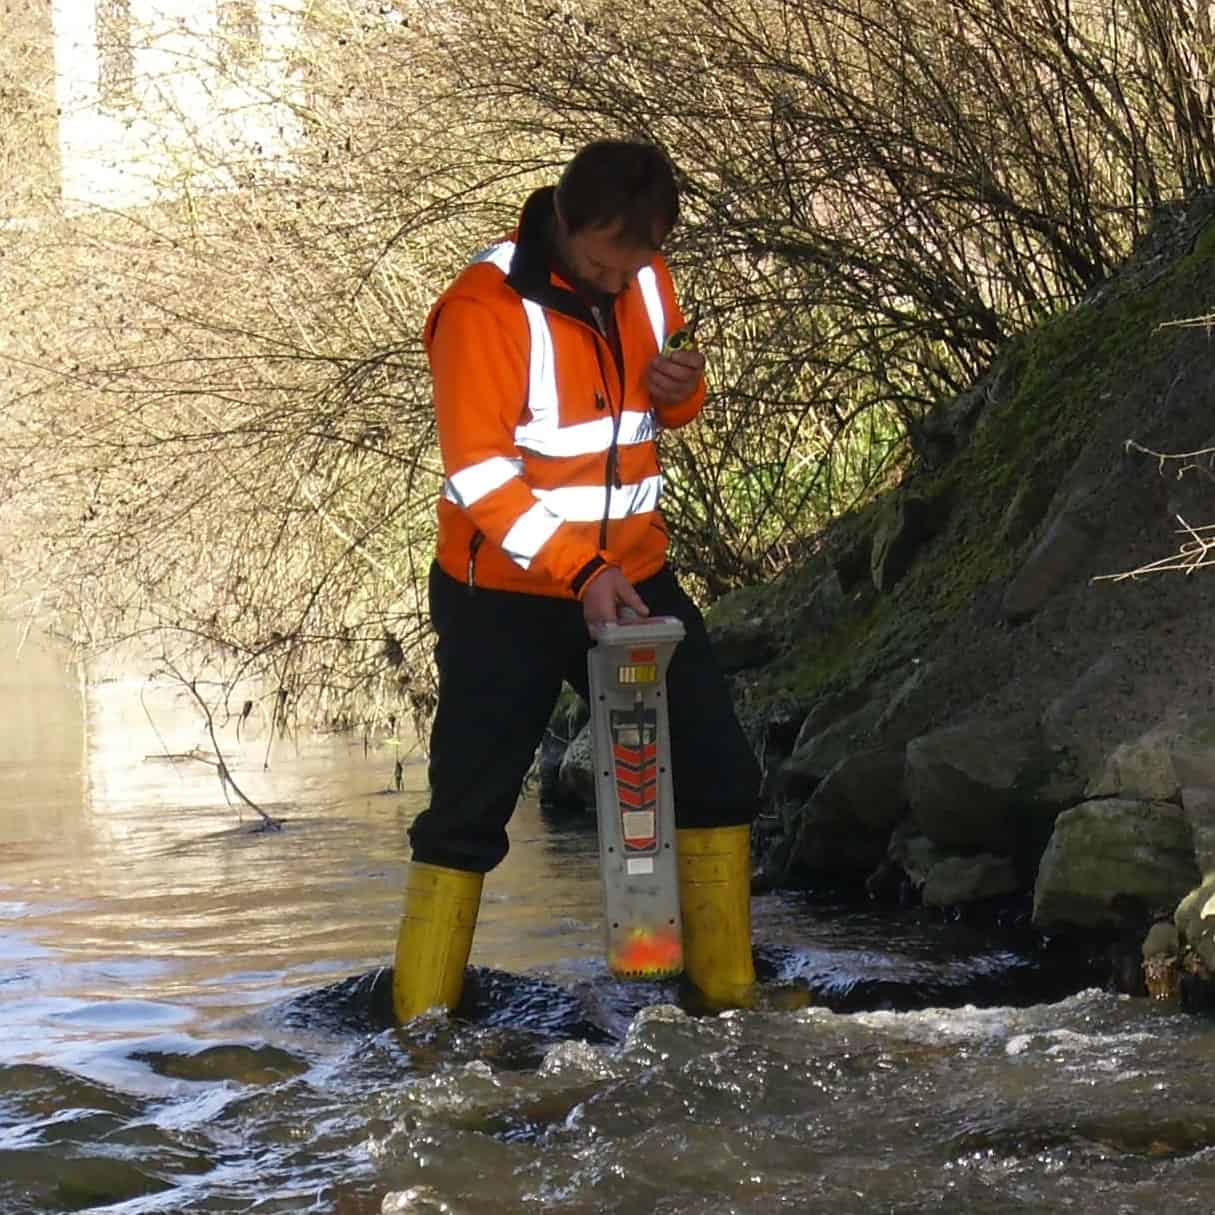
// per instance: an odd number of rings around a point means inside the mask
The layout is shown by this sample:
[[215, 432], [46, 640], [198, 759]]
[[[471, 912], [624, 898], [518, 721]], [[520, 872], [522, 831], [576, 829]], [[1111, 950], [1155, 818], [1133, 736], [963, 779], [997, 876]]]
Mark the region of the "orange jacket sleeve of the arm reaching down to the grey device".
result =
[[522, 309], [513, 328], [490, 305], [456, 296], [430, 318], [426, 338], [445, 496], [520, 569], [581, 593], [603, 558], [532, 493], [515, 446], [529, 379]]

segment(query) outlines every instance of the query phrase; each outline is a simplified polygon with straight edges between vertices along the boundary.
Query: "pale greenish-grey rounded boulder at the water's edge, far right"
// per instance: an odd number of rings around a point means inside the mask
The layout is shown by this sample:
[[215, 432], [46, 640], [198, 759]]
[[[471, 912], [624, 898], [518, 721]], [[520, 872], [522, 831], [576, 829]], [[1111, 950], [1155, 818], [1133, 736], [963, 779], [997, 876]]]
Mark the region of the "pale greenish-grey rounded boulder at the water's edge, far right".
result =
[[1119, 926], [1128, 900], [1145, 916], [1198, 883], [1183, 810], [1169, 802], [1083, 802], [1058, 816], [1034, 888], [1040, 928]]

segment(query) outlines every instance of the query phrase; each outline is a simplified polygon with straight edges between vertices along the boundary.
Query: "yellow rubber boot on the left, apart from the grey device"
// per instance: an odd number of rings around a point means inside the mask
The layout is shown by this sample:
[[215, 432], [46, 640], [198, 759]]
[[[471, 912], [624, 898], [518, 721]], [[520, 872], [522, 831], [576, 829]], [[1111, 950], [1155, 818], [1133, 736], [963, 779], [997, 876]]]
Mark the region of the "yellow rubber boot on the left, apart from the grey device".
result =
[[484, 881], [484, 874], [411, 861], [392, 971], [392, 1008], [402, 1024], [436, 1005], [459, 1004]]

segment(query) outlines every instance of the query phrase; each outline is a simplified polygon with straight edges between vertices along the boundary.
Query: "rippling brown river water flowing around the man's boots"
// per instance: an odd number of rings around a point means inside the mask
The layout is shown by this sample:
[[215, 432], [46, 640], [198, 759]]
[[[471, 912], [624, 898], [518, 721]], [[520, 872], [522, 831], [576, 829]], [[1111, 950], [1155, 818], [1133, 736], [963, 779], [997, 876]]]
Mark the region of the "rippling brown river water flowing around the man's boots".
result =
[[258, 831], [169, 758], [210, 746], [187, 697], [0, 640], [0, 1215], [1211, 1209], [1209, 1022], [790, 895], [759, 962], [816, 1004], [699, 1017], [611, 981], [593, 831], [533, 799], [467, 1015], [396, 1029], [420, 756], [228, 724]]

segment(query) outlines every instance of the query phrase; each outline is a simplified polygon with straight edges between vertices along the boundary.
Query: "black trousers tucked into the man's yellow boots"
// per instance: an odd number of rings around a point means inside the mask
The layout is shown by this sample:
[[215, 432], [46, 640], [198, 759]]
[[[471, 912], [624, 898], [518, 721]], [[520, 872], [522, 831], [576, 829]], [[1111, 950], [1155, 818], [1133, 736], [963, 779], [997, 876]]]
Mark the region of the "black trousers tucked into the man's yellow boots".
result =
[[[671, 774], [680, 827], [750, 823], [759, 767], [734, 714], [705, 621], [669, 570], [637, 587], [654, 616], [686, 629], [667, 671]], [[507, 854], [507, 824], [561, 682], [587, 696], [590, 639], [582, 605], [470, 590], [430, 570], [439, 707], [430, 735], [430, 806], [409, 829], [413, 859], [486, 872]]]

